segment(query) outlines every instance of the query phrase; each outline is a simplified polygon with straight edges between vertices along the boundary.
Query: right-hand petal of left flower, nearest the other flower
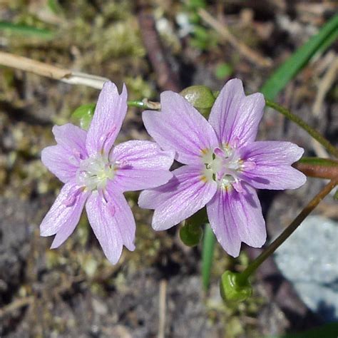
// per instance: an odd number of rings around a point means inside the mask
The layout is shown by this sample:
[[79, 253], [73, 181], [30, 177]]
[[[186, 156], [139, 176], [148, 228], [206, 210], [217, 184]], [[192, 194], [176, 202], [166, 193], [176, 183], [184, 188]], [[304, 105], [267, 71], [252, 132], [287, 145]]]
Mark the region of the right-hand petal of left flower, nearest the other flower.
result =
[[113, 179], [122, 191], [155, 188], [167, 183], [173, 174], [173, 150], [163, 151], [155, 142], [130, 140], [116, 145], [112, 160], [118, 163]]

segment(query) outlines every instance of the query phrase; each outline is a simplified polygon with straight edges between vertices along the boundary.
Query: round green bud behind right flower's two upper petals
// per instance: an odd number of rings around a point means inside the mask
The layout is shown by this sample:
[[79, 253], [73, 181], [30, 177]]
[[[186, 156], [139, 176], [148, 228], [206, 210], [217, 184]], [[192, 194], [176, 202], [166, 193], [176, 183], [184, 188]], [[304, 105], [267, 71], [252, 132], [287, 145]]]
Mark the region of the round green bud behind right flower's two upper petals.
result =
[[192, 104], [205, 118], [208, 118], [215, 96], [207, 86], [190, 86], [183, 89], [180, 95]]

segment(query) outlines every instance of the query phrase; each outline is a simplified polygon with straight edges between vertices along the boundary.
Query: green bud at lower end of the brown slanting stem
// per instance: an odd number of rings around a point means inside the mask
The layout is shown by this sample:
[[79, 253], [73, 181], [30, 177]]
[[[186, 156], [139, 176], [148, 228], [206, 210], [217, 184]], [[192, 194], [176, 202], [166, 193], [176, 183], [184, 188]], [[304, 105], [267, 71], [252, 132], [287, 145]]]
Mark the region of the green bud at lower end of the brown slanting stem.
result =
[[220, 295], [225, 302], [242, 302], [252, 295], [252, 287], [248, 280], [240, 279], [240, 273], [225, 271], [220, 279]]

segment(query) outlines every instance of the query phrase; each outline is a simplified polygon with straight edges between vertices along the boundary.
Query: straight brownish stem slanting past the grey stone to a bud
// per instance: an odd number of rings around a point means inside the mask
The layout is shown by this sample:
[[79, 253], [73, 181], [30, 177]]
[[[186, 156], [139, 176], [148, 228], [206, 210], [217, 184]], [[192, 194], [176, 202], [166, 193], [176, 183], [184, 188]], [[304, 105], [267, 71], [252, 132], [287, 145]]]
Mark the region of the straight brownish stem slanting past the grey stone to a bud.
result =
[[282, 234], [274, 240], [269, 247], [267, 247], [255, 260], [253, 260], [250, 265], [242, 272], [240, 275], [237, 276], [237, 282], [239, 282], [242, 285], [245, 285], [247, 283], [248, 277], [252, 275], [252, 272], [255, 272], [257, 270], [257, 267], [259, 267], [262, 262], [264, 262], [267, 257], [272, 255], [275, 250], [282, 245], [285, 240], [287, 240], [290, 235], [292, 235], [292, 232], [294, 232], [297, 227], [302, 223], [302, 221], [309, 215], [314, 208], [317, 207], [319, 202], [327, 195], [329, 192], [338, 184], [338, 178], [334, 178], [331, 180], [325, 187], [316, 195], [312, 200], [309, 202], [309, 204], [302, 210], [302, 212], [299, 213], [299, 215], [295, 218], [295, 220], [292, 221], [292, 223], [282, 232]]

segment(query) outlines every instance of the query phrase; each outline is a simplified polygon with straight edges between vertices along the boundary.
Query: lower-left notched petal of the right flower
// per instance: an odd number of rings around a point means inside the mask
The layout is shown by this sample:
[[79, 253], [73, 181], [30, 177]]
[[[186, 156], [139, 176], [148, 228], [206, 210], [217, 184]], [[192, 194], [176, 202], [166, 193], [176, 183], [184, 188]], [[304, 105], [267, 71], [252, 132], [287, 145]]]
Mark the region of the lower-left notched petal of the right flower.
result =
[[201, 168], [184, 165], [173, 170], [174, 177], [165, 185], [140, 193], [140, 208], [155, 209], [153, 228], [166, 230], [205, 206], [216, 192], [216, 183], [201, 178]]

